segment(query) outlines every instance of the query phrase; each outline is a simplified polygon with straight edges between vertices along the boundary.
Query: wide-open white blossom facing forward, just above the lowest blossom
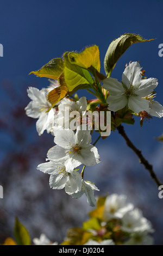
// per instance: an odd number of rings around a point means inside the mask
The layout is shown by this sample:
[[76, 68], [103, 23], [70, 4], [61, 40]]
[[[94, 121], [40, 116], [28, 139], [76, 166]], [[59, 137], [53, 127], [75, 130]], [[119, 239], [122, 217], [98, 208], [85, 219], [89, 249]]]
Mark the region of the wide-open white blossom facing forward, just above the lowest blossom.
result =
[[80, 130], [74, 133], [70, 129], [54, 131], [54, 143], [57, 144], [48, 151], [49, 160], [63, 162], [67, 172], [80, 164], [94, 166], [99, 163], [97, 148], [91, 145], [90, 131]]

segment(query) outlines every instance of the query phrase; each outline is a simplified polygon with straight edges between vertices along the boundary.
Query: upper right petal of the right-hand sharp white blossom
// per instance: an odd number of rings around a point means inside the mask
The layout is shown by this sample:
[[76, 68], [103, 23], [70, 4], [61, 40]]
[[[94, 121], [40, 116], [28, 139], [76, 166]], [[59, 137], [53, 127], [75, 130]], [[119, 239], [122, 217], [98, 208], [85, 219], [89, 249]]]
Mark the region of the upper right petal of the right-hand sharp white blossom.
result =
[[142, 79], [140, 85], [134, 90], [134, 93], [140, 95], [141, 97], [146, 97], [151, 94], [158, 85], [158, 80], [156, 78]]

